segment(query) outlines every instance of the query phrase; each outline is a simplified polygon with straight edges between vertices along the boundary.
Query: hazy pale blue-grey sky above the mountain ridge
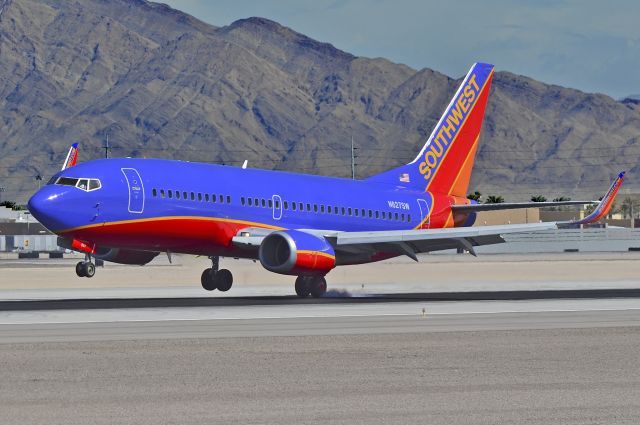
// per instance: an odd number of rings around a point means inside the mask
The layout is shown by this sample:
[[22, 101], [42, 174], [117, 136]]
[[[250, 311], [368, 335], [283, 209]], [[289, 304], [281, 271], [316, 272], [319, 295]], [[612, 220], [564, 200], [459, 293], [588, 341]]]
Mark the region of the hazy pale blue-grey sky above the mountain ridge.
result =
[[452, 77], [475, 61], [546, 83], [640, 94], [637, 0], [158, 0], [216, 26], [272, 19], [358, 56]]

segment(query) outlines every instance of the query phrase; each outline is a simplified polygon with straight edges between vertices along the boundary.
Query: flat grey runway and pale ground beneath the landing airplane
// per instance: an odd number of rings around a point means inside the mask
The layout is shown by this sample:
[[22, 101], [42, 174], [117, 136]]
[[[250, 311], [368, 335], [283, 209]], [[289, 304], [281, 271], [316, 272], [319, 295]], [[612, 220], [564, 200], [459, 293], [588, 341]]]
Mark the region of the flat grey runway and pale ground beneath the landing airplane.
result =
[[491, 282], [469, 280], [469, 264], [449, 291], [432, 273], [423, 291], [347, 282], [319, 300], [284, 295], [290, 286], [277, 283], [211, 296], [186, 285], [126, 288], [137, 280], [12, 282], [0, 290], [0, 415], [34, 424], [636, 424], [635, 259], [535, 281], [539, 263], [514, 263], [521, 274]]

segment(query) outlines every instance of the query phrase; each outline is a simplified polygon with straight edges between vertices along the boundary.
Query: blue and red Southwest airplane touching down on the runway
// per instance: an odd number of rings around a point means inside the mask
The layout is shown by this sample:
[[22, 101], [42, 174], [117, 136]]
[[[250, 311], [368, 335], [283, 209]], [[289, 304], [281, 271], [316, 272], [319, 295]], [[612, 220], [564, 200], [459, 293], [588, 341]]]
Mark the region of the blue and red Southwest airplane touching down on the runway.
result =
[[[364, 180], [161, 159], [114, 158], [63, 170], [29, 200], [29, 210], [92, 258], [146, 264], [159, 253], [207, 256], [206, 290], [227, 291], [233, 277], [219, 257], [258, 259], [297, 276], [300, 297], [322, 296], [334, 267], [504, 242], [502, 235], [554, 229], [558, 223], [470, 227], [479, 211], [586, 202], [478, 204], [466, 198], [493, 66], [473, 65], [422, 150], [409, 164]], [[611, 207], [620, 173], [593, 214]]]

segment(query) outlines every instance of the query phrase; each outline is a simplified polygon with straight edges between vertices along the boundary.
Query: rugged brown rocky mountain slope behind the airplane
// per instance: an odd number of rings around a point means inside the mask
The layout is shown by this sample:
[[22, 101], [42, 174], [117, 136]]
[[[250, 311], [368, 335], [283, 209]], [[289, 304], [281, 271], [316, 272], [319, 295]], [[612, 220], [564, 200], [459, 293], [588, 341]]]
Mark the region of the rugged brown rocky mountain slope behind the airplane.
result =
[[[469, 64], [471, 65], [471, 64]], [[460, 75], [466, 73], [460, 70]], [[278, 23], [216, 28], [142, 0], [0, 0], [0, 186], [24, 202], [68, 145], [358, 176], [415, 156], [459, 79], [355, 57]], [[640, 105], [498, 72], [472, 187], [591, 198], [630, 171]]]

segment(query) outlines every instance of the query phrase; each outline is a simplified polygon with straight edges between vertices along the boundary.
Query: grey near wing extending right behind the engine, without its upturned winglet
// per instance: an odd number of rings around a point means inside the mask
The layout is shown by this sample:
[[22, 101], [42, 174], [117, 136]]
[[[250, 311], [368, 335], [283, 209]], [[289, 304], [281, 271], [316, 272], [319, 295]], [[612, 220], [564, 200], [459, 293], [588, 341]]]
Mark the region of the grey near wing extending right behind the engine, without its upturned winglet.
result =
[[418, 261], [416, 254], [463, 248], [475, 255], [473, 247], [502, 243], [502, 235], [557, 229], [556, 223], [508, 224], [428, 230], [338, 232], [325, 235], [336, 251], [397, 252]]

